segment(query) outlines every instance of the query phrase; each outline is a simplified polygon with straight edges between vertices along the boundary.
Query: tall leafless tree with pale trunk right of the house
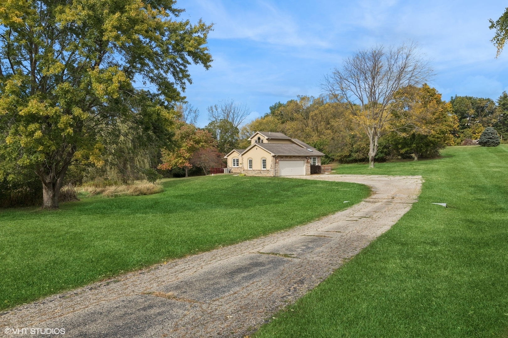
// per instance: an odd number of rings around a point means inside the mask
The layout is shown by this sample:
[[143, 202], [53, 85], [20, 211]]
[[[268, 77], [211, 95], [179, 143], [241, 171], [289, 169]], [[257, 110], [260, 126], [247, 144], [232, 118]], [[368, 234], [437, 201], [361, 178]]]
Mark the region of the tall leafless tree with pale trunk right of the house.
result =
[[364, 128], [370, 143], [369, 166], [373, 168], [379, 137], [404, 128], [390, 114], [394, 94], [407, 86], [422, 85], [431, 77], [432, 69], [415, 44], [376, 46], [345, 59], [341, 68], [325, 76], [322, 88], [346, 103], [355, 121]]

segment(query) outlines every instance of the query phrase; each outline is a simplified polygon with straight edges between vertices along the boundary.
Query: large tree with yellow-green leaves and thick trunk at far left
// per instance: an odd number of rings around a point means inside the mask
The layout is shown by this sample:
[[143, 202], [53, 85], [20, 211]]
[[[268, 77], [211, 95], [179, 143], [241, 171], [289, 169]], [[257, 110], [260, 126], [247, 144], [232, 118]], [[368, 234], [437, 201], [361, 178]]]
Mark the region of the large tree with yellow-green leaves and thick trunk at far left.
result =
[[211, 26], [182, 12], [173, 0], [2, 2], [0, 175], [33, 170], [55, 208], [70, 165], [101, 164], [108, 130], [167, 129], [188, 65], [212, 61]]

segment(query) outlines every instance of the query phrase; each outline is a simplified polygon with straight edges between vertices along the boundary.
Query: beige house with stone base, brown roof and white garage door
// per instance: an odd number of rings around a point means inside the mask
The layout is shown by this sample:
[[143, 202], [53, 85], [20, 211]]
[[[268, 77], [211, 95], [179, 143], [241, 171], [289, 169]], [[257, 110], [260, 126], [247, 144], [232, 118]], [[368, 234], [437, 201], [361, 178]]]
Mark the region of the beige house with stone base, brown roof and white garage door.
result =
[[233, 149], [228, 168], [248, 176], [310, 175], [310, 165], [321, 165], [325, 154], [282, 133], [258, 131], [247, 149]]

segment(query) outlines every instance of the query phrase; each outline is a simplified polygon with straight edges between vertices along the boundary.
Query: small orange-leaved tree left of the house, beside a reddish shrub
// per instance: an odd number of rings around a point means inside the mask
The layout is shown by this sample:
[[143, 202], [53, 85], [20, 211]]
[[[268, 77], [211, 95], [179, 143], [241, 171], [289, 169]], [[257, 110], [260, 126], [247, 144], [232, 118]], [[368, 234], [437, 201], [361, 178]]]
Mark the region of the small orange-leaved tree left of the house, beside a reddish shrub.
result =
[[213, 145], [215, 140], [206, 130], [201, 130], [192, 124], [179, 123], [176, 126], [172, 145], [162, 149], [163, 163], [158, 168], [184, 168], [185, 177], [188, 177], [188, 170], [192, 168], [192, 164], [189, 163], [190, 157], [199, 149]]

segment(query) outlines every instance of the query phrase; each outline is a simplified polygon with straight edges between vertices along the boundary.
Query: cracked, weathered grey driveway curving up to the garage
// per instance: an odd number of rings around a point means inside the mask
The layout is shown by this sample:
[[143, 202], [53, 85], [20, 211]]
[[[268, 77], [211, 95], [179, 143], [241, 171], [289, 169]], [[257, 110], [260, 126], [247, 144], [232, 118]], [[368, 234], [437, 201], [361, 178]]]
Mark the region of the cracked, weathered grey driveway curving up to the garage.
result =
[[372, 195], [304, 226], [17, 307], [0, 316], [0, 327], [65, 328], [69, 337], [244, 336], [389, 230], [417, 201], [423, 181], [293, 177], [362, 183]]

